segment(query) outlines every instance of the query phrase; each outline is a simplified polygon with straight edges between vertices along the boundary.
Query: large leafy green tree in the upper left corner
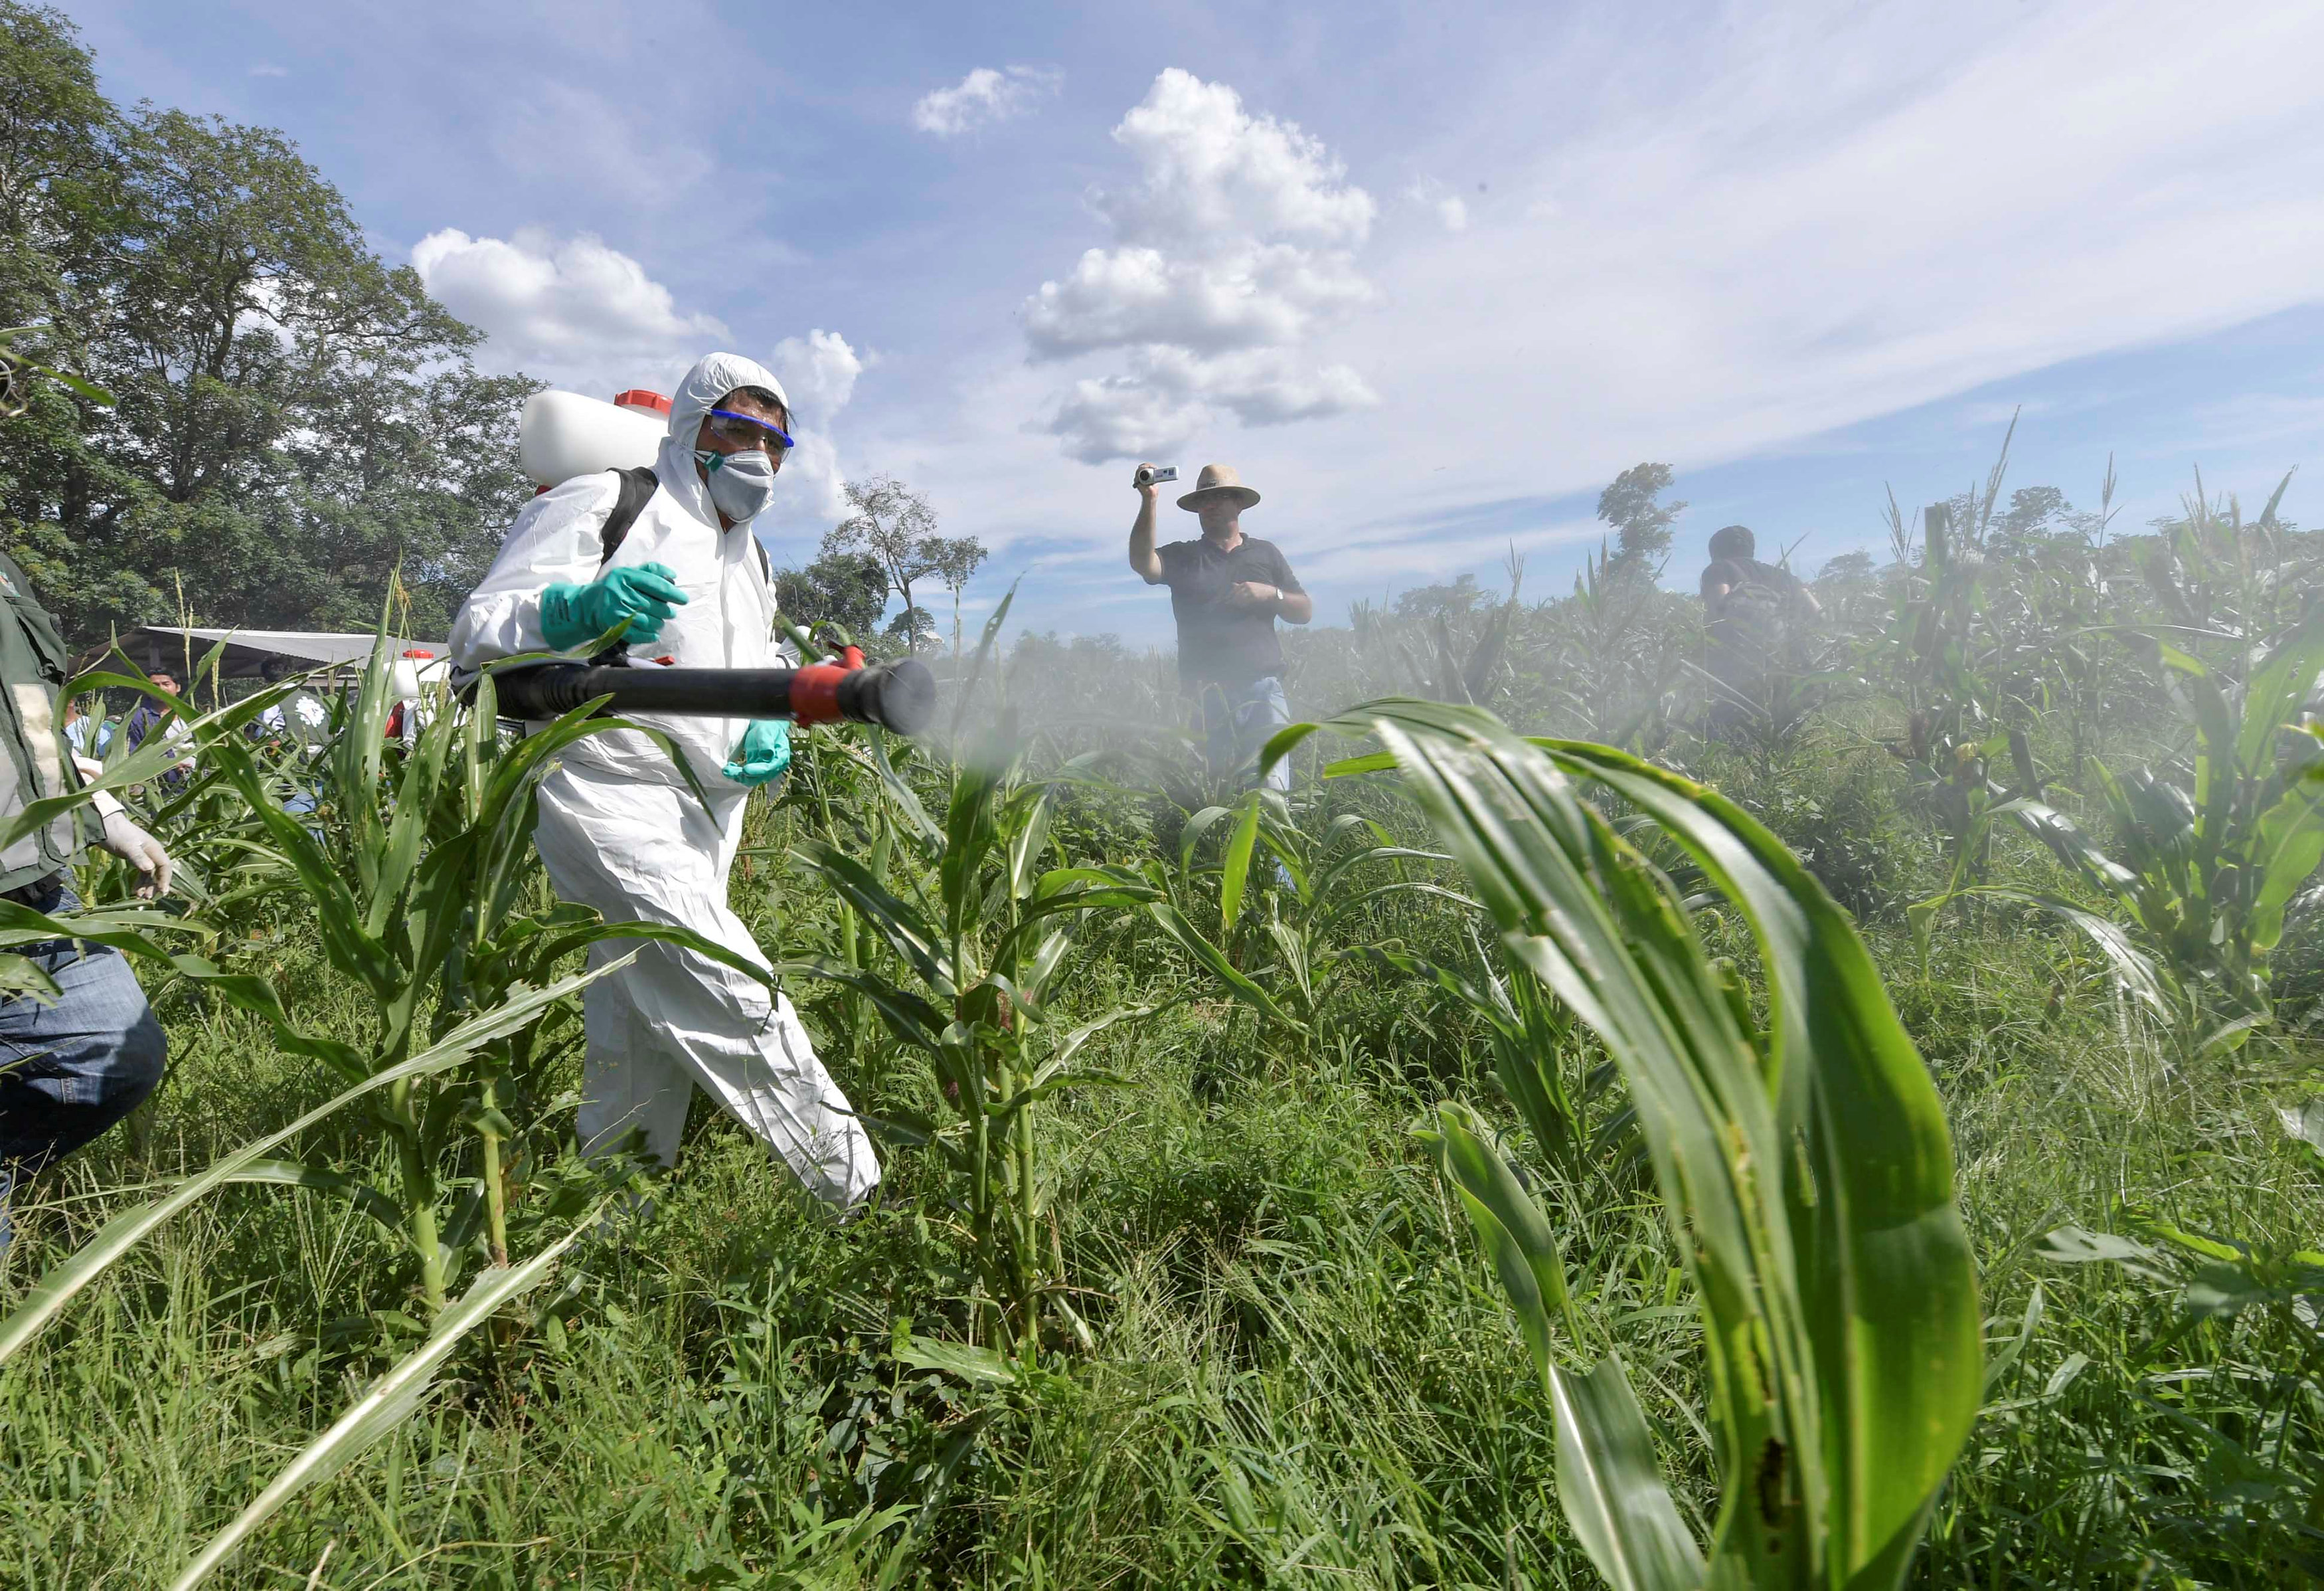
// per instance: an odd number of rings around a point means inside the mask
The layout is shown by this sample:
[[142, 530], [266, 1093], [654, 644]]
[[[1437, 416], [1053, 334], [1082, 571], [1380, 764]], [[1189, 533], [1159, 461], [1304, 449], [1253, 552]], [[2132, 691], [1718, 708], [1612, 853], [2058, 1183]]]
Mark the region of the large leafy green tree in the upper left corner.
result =
[[116, 112], [16, 0], [0, 74], [0, 307], [119, 398], [35, 384], [0, 421], [0, 547], [67, 637], [370, 628], [397, 570], [402, 621], [442, 633], [523, 507], [532, 384], [476, 374], [479, 333], [279, 133]]

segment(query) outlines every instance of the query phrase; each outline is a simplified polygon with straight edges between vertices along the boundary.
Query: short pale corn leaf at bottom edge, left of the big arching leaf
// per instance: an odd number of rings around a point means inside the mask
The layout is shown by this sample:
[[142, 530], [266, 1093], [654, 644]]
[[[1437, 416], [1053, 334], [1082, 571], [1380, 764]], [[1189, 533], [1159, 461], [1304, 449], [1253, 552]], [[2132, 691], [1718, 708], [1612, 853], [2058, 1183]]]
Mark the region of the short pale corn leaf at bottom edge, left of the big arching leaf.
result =
[[1622, 1361], [1608, 1354], [1590, 1375], [1552, 1368], [1550, 1398], [1557, 1405], [1557, 1505], [1606, 1584], [1613, 1591], [1699, 1591], [1703, 1551], [1662, 1482], [1655, 1437]]

